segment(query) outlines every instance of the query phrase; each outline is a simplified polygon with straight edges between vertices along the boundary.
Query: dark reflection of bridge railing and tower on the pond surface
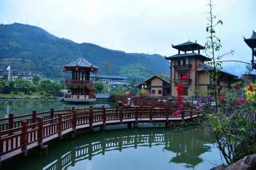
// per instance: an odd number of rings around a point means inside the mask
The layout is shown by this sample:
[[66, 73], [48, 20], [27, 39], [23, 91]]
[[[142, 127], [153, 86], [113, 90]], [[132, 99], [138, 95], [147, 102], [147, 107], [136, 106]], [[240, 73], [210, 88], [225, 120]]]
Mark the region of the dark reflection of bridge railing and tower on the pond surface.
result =
[[183, 163], [187, 168], [194, 168], [203, 162], [200, 155], [211, 151], [209, 143], [214, 144], [216, 142], [212, 133], [203, 127], [185, 129], [182, 133], [181, 131], [170, 131], [167, 128], [138, 128], [115, 131], [119, 131], [119, 133], [110, 130], [93, 132], [97, 133], [95, 135], [93, 133], [83, 134], [84, 136], [90, 135], [90, 141], [75, 139], [74, 145], [79, 147], [73, 147], [69, 151], [61, 150], [62, 154], [58, 153], [55, 160], [45, 162], [41, 166], [42, 169], [67, 169], [69, 166], [75, 166], [79, 161], [91, 160], [94, 156], [104, 155], [106, 152], [115, 150], [121, 152], [127, 148], [137, 149], [138, 147], [151, 148], [156, 145], [163, 145], [164, 152], [170, 151], [176, 154], [175, 157], [170, 158], [169, 163]]

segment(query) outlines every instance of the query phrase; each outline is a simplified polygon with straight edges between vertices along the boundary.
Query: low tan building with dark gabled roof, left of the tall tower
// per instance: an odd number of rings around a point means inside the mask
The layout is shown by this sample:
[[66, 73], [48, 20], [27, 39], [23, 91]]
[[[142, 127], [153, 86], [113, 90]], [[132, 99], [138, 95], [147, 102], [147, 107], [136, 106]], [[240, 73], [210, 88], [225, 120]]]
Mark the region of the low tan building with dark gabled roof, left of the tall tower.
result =
[[170, 95], [170, 82], [160, 78], [159, 76], [153, 76], [144, 82], [141, 82], [137, 88], [151, 91], [154, 96], [166, 96]]

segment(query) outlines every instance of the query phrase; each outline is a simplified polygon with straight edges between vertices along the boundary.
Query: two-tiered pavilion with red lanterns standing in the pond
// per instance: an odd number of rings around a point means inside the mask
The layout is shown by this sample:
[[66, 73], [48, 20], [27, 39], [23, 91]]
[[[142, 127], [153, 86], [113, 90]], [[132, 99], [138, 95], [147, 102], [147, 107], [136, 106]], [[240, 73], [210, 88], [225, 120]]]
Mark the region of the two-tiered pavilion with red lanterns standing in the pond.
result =
[[70, 71], [71, 80], [66, 80], [66, 85], [71, 87], [71, 94], [63, 98], [67, 102], [92, 102], [96, 101], [96, 86], [90, 81], [90, 72], [96, 73], [98, 67], [80, 58], [64, 66], [62, 71]]

